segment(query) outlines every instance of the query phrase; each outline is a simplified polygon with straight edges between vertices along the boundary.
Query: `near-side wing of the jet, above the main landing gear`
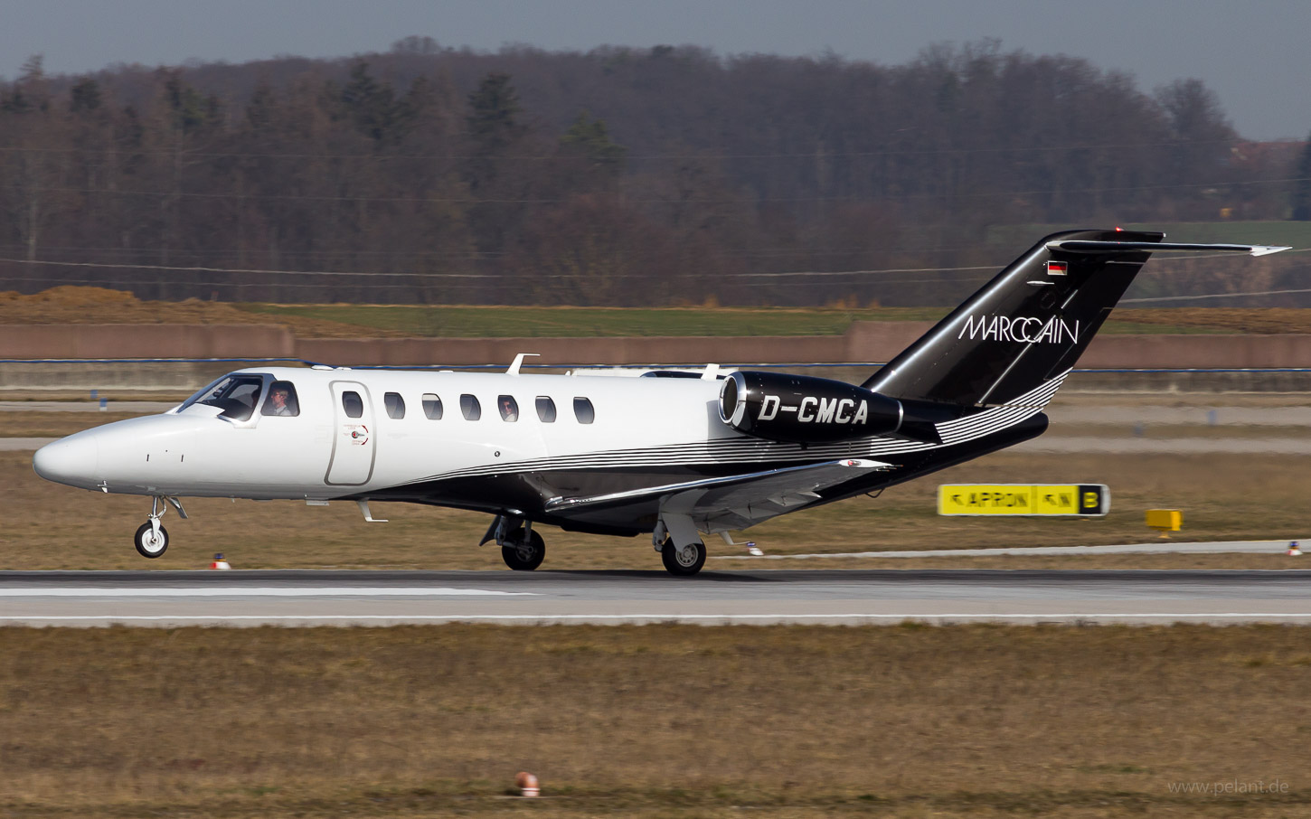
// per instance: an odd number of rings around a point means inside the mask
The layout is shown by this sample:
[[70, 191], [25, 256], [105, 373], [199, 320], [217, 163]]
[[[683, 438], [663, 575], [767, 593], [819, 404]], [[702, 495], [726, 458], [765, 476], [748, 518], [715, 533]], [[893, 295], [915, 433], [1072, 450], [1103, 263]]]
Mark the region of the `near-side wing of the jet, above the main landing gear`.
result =
[[652, 512], [688, 515], [705, 532], [743, 529], [818, 501], [822, 489], [891, 468], [882, 461], [842, 459], [586, 498], [555, 498], [547, 502], [547, 511], [586, 519], [648, 506]]

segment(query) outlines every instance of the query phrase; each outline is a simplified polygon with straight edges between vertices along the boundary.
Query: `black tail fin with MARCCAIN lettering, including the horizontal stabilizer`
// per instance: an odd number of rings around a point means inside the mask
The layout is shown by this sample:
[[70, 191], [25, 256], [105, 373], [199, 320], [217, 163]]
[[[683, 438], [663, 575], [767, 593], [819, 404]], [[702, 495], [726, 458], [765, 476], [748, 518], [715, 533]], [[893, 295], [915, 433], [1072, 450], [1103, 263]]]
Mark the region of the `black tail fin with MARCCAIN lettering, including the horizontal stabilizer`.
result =
[[1011, 262], [861, 387], [902, 400], [998, 405], [1053, 390], [1154, 250], [1283, 248], [1163, 244], [1164, 233], [1053, 233]]

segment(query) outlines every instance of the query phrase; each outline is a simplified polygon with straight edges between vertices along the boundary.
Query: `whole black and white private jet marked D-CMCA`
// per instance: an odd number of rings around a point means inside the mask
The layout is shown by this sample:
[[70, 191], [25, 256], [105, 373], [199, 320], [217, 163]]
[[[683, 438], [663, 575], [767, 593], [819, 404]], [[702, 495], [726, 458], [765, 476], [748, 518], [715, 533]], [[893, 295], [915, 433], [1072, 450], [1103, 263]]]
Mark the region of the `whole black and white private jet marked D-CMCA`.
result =
[[[168, 548], [181, 498], [401, 501], [492, 515], [511, 569], [540, 527], [649, 535], [674, 574], [703, 533], [882, 489], [1034, 438], [1059, 389], [1163, 233], [1047, 236], [859, 387], [707, 367], [700, 377], [254, 368], [161, 415], [39, 449], [42, 477], [152, 498], [136, 549]], [[674, 373], [652, 373], [674, 375]], [[676, 373], [687, 376], [690, 373]]]

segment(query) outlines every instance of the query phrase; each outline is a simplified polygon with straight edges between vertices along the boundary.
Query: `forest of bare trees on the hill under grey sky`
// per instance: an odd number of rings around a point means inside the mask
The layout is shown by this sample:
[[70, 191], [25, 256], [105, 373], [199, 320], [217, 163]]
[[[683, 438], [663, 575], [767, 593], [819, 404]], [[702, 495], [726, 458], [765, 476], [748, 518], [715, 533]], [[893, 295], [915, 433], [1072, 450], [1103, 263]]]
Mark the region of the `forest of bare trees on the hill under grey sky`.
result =
[[1306, 219], [1298, 157], [1242, 145], [1197, 80], [1145, 92], [992, 42], [902, 66], [429, 38], [88, 76], [33, 58], [0, 84], [0, 288], [935, 304], [1006, 261], [998, 225]]

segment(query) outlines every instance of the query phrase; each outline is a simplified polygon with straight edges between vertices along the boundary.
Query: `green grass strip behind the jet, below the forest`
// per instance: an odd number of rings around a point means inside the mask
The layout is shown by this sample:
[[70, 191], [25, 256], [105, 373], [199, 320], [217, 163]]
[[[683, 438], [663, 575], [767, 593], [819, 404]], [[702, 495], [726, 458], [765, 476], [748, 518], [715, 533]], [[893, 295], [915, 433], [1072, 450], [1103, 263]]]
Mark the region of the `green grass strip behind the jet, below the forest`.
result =
[[[337, 321], [414, 337], [842, 335], [852, 321], [937, 321], [949, 308], [614, 308], [408, 304], [239, 304], [267, 316]], [[1209, 328], [1106, 322], [1104, 333], [1217, 333]]]

